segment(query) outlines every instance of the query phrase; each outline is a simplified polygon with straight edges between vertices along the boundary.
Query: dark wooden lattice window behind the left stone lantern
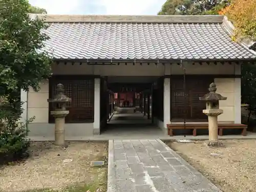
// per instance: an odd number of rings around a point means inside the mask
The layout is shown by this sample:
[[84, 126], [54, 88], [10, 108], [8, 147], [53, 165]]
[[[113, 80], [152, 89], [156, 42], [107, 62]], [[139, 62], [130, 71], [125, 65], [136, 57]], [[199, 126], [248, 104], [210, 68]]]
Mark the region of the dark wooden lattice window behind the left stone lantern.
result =
[[[62, 83], [65, 94], [72, 99], [67, 104], [69, 115], [66, 123], [94, 121], [94, 79], [87, 76], [53, 76], [49, 81], [49, 98], [56, 94], [56, 86]], [[53, 104], [49, 103], [49, 122], [54, 122], [50, 111]]]

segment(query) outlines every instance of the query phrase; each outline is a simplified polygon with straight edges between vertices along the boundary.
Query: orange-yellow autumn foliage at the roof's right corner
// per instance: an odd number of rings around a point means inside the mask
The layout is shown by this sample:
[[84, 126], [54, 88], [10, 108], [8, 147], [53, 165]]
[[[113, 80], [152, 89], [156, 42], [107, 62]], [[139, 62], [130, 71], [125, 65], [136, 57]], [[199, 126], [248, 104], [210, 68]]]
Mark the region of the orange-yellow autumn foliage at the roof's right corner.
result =
[[234, 35], [256, 40], [256, 0], [232, 0], [229, 7], [221, 10], [233, 23]]

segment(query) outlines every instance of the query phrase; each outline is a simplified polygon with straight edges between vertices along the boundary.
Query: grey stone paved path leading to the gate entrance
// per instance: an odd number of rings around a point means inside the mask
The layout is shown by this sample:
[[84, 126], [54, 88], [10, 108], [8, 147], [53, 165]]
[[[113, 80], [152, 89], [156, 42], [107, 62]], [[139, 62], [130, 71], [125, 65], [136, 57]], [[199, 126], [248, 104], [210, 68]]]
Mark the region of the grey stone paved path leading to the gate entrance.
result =
[[110, 140], [108, 192], [217, 192], [159, 139]]

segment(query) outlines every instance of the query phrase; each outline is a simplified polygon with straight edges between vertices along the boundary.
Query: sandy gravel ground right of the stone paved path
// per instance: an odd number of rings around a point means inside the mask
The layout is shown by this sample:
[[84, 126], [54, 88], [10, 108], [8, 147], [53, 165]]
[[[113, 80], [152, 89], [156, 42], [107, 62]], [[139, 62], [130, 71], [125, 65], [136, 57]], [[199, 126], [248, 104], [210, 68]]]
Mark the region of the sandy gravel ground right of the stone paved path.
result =
[[256, 140], [223, 140], [219, 148], [205, 142], [167, 144], [223, 192], [256, 191]]

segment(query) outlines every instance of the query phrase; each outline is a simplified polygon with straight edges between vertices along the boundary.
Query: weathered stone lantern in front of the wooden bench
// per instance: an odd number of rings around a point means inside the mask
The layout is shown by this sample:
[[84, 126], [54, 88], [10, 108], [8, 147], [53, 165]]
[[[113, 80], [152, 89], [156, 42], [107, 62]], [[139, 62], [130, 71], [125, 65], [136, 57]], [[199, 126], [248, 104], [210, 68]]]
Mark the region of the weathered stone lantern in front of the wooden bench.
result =
[[223, 110], [219, 109], [219, 100], [226, 100], [227, 97], [216, 93], [217, 88], [215, 83], [211, 83], [208, 90], [209, 93], [203, 97], [199, 97], [199, 100], [206, 101], [206, 109], [203, 110], [203, 113], [208, 116], [209, 142], [207, 145], [219, 146], [218, 116], [223, 113]]

